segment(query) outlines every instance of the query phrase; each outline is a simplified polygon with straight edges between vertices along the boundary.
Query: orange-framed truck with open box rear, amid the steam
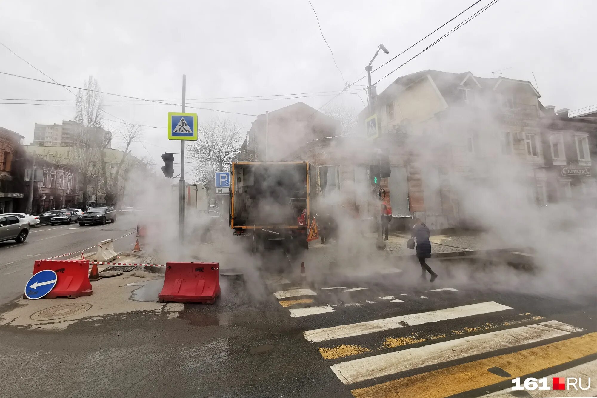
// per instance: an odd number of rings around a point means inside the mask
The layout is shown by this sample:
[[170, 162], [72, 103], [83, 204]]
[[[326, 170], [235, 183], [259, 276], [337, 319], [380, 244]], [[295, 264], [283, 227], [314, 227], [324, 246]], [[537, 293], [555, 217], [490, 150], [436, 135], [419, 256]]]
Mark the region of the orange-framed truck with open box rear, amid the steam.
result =
[[228, 224], [252, 244], [309, 248], [312, 222], [307, 161], [247, 161], [230, 166]]

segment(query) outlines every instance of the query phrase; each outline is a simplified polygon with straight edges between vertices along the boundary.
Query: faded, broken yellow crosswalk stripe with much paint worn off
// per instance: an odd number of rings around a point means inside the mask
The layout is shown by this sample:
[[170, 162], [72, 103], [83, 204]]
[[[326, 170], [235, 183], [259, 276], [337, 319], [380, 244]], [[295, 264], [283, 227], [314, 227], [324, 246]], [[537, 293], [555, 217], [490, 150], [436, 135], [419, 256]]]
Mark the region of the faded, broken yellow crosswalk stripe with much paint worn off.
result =
[[[436, 340], [441, 338], [447, 338], [452, 336], [461, 335], [463, 333], [476, 333], [482, 332], [485, 330], [497, 329], [498, 327], [503, 326], [511, 326], [513, 324], [525, 323], [525, 322], [533, 322], [542, 320], [544, 317], [541, 316], [526, 316], [525, 314], [518, 314], [517, 316], [508, 317], [506, 320], [502, 320], [500, 322], [485, 322], [479, 324], [477, 326], [465, 326], [461, 329], [450, 330], [449, 332], [444, 333], [429, 333], [429, 332], [413, 332], [407, 336], [399, 336], [399, 337], [386, 337], [384, 342], [380, 345], [380, 347], [362, 347], [366, 348], [368, 351], [373, 350], [386, 350], [387, 348], [396, 348], [396, 347], [404, 347], [405, 345], [417, 344], [424, 341]], [[338, 347], [342, 347], [343, 345], [338, 345], [336, 347], [320, 347], [319, 351], [321, 352], [324, 350], [325, 352], [340, 352], [336, 350]], [[345, 357], [356, 355], [360, 353], [351, 354], [347, 352]], [[340, 358], [334, 357], [333, 359]], [[326, 358], [327, 359], [327, 358]]]

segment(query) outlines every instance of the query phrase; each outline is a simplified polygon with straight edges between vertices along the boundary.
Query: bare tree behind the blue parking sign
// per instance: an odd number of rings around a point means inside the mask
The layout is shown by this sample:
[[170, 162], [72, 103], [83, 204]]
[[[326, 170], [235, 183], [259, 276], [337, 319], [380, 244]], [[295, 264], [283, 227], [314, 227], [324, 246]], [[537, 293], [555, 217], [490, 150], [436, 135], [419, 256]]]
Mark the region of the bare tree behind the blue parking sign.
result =
[[207, 172], [223, 172], [232, 161], [244, 137], [241, 125], [226, 118], [213, 118], [199, 125], [199, 138], [189, 145], [189, 154], [197, 162], [201, 175]]

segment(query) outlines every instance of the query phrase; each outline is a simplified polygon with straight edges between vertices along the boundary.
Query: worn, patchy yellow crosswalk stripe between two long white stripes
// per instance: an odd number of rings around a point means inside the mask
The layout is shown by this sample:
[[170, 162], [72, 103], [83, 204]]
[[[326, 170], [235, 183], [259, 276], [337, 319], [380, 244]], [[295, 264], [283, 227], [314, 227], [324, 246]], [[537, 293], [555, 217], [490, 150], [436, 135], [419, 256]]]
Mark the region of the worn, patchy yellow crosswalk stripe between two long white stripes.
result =
[[[368, 351], [373, 350], [385, 350], [386, 348], [396, 348], [402, 347], [404, 345], [411, 345], [417, 344], [423, 341], [435, 340], [440, 338], [446, 338], [448, 336], [456, 336], [456, 335], [463, 335], [464, 333], [475, 333], [481, 332], [485, 330], [497, 329], [498, 327], [503, 326], [510, 326], [513, 324], [530, 322], [534, 320], [541, 320], [544, 319], [540, 316], [532, 316], [529, 313], [526, 314], [518, 314], [519, 316], [525, 316], [522, 319], [518, 319], [518, 317], [513, 317], [511, 319], [505, 320], [503, 322], [486, 322], [480, 324], [479, 326], [474, 327], [462, 327], [461, 329], [450, 330], [448, 333], [410, 333], [410, 335], [402, 336], [402, 337], [387, 337], [386, 340], [381, 344], [381, 347], [378, 348], [368, 348], [363, 347], [362, 345], [336, 345], [335, 347], [319, 347], [319, 352], [324, 359], [338, 359], [343, 357], [349, 357], [353, 355], [362, 354]], [[346, 347], [359, 347], [358, 350], [348, 350]]]

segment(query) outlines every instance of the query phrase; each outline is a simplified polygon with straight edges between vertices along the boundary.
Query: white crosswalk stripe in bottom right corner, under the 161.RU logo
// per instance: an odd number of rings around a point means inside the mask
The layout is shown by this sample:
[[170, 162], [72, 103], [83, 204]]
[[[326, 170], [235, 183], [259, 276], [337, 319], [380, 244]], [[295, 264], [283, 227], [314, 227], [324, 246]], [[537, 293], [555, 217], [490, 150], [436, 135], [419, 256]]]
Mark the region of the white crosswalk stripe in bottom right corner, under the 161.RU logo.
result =
[[[582, 378], [583, 383], [588, 381], [590, 377], [595, 378], [597, 375], [597, 360], [583, 363], [582, 365], [574, 366], [573, 368], [566, 369], [565, 371], [561, 371], [558, 373], [553, 373], [553, 375], [544, 376], [547, 380], [550, 380], [554, 377], [576, 377]], [[524, 381], [523, 381], [524, 382]], [[548, 381], [549, 383], [549, 381]], [[584, 386], [584, 385], [583, 385]], [[526, 390], [529, 397], [533, 398], [544, 398], [544, 397], [576, 397], [578, 394], [582, 394], [585, 397], [594, 397], [597, 394], [597, 384], [591, 384], [591, 387], [588, 390], [583, 390], [581, 393], [579, 390], [574, 390], [570, 388], [570, 390]], [[515, 395], [511, 394], [512, 388], [506, 388], [505, 390], [496, 391], [495, 393], [484, 395], [484, 397], [492, 397], [492, 398], [510, 398], [516, 397]]]

